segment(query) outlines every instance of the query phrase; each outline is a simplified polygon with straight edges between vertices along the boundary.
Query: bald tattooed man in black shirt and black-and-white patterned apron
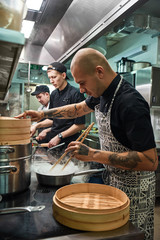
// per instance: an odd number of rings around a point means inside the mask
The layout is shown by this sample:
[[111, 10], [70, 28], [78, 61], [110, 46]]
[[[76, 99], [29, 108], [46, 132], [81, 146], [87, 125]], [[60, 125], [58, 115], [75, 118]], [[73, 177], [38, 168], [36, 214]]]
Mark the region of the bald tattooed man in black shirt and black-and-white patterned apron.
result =
[[18, 118], [77, 118], [95, 112], [101, 150], [71, 142], [66, 151], [82, 161], [104, 164], [105, 184], [124, 191], [131, 200], [130, 219], [154, 235], [155, 170], [158, 157], [147, 102], [140, 93], [113, 71], [107, 59], [91, 48], [79, 50], [71, 72], [80, 92], [88, 98], [77, 104], [47, 111], [26, 111]]

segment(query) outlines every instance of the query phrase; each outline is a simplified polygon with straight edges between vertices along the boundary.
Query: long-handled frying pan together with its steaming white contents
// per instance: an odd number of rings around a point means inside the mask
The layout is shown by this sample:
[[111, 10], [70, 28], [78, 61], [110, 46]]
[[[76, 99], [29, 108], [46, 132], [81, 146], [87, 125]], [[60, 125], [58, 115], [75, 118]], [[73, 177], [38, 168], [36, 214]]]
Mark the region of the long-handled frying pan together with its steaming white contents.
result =
[[[44, 166], [44, 167], [43, 167]], [[66, 169], [66, 171], [58, 172], [56, 171], [52, 173], [52, 171], [49, 171], [50, 168], [48, 168], [48, 171], [45, 169], [45, 164], [41, 163], [39, 164], [39, 168], [35, 169], [36, 177], [41, 185], [46, 186], [64, 186], [71, 183], [71, 180], [75, 176], [81, 176], [86, 174], [93, 174], [93, 173], [100, 173], [105, 170], [105, 168], [101, 169], [89, 169], [85, 171], [79, 171], [75, 172], [74, 166], [73, 170]], [[67, 167], [66, 167], [67, 168]]]

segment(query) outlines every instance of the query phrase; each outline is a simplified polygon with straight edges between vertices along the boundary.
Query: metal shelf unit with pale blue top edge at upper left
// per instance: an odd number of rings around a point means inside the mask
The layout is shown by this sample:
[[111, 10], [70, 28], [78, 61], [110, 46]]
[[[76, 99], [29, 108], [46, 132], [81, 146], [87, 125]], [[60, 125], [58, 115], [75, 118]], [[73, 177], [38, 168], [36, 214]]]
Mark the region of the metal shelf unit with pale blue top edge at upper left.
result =
[[5, 101], [24, 44], [22, 33], [0, 28], [0, 100]]

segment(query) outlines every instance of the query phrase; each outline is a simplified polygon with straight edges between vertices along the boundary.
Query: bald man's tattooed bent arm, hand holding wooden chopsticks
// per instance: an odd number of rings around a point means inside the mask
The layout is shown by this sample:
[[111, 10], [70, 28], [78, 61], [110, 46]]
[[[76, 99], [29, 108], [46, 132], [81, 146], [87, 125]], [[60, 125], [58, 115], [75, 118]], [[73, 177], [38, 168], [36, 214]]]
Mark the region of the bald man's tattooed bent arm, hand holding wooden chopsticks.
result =
[[125, 170], [155, 171], [158, 166], [158, 157], [155, 148], [144, 152], [114, 153], [90, 148], [80, 142], [71, 142], [66, 152], [79, 160], [99, 162]]

